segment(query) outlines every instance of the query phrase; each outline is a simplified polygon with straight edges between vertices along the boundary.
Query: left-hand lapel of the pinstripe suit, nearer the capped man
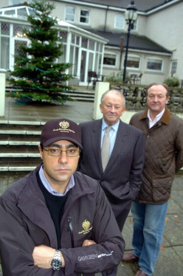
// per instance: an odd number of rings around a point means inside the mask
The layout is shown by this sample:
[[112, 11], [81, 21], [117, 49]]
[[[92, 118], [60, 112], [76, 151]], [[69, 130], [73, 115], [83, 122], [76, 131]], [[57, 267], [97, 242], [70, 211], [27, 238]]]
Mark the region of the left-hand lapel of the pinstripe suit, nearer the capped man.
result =
[[92, 132], [91, 132], [91, 142], [92, 142], [92, 150], [96, 159], [96, 164], [99, 167], [101, 173], [103, 173], [102, 169], [102, 159], [101, 159], [101, 131], [102, 131], [102, 119], [96, 120]]

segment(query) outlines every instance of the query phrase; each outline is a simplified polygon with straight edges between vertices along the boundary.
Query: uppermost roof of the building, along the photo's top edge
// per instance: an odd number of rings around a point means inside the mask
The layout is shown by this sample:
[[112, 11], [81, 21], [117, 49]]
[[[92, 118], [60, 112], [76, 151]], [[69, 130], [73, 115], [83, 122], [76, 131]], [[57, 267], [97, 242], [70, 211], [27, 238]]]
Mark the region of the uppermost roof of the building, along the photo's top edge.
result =
[[[138, 11], [147, 12], [173, 0], [135, 0], [134, 3]], [[88, 2], [98, 5], [106, 5], [126, 9], [130, 4], [130, 0], [80, 0], [80, 2]]]

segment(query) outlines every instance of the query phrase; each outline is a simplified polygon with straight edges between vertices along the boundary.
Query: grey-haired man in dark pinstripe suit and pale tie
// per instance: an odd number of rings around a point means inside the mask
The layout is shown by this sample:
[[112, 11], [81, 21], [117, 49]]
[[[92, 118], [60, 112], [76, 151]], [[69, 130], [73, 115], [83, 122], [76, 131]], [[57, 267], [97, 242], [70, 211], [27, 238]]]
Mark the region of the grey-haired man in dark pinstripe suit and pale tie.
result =
[[[83, 151], [78, 170], [101, 184], [122, 231], [132, 200], [140, 189], [144, 137], [140, 130], [120, 120], [125, 111], [125, 98], [120, 91], [105, 92], [100, 110], [102, 119], [80, 124]], [[108, 126], [111, 126], [109, 161], [103, 164], [101, 149]]]

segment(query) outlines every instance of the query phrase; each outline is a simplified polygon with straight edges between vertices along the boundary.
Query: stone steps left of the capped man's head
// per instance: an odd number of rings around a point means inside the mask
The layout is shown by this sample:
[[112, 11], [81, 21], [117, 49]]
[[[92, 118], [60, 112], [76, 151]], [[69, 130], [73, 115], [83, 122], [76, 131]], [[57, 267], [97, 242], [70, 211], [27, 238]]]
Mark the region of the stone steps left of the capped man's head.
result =
[[0, 172], [31, 171], [40, 162], [39, 141], [44, 123], [0, 123]]

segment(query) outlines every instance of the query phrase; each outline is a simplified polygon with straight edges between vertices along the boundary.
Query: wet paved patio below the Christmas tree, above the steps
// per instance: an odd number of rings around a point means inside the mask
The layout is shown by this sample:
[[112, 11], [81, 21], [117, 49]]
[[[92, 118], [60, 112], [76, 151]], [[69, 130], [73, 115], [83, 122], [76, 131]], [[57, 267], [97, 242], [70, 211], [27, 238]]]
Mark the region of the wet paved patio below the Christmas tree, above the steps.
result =
[[4, 117], [0, 121], [40, 121], [68, 118], [77, 123], [92, 119], [93, 102], [68, 101], [65, 105], [32, 103], [19, 105], [14, 98], [5, 97]]

